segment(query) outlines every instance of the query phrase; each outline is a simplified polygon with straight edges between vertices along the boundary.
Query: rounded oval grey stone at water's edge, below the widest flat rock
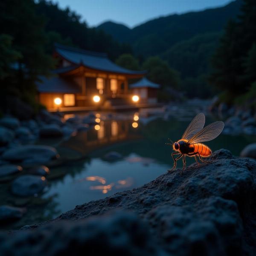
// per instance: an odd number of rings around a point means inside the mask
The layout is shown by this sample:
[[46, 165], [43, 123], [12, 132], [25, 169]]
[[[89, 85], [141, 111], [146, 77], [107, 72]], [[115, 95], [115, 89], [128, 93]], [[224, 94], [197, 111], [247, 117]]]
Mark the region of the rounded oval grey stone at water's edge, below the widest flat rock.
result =
[[42, 192], [47, 184], [45, 177], [23, 175], [12, 182], [12, 193], [18, 196], [31, 196]]

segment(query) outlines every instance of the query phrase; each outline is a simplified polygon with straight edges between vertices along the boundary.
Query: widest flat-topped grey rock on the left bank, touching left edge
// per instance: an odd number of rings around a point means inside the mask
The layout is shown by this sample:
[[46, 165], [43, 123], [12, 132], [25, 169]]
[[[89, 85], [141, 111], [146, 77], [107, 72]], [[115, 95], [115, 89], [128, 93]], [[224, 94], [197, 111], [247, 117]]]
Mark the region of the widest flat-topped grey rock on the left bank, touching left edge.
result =
[[2, 159], [20, 163], [47, 163], [58, 157], [55, 148], [44, 145], [23, 145], [6, 150]]

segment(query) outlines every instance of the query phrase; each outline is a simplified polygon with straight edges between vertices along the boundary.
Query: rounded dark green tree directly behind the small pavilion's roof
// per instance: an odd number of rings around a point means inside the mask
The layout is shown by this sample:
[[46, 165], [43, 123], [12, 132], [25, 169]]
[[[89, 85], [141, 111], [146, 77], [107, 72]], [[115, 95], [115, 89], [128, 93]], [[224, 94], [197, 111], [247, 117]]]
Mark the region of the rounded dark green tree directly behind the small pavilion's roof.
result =
[[143, 70], [147, 70], [149, 80], [163, 87], [179, 88], [180, 76], [176, 70], [169, 67], [166, 61], [159, 57], [149, 57], [143, 63]]

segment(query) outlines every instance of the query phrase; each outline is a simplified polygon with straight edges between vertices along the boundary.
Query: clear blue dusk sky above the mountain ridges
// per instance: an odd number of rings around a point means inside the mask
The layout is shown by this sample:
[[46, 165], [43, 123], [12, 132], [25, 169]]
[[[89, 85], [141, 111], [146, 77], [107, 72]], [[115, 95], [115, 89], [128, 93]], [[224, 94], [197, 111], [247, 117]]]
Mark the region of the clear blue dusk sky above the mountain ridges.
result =
[[133, 27], [152, 18], [223, 6], [232, 0], [54, 0], [82, 15], [89, 26], [106, 20]]

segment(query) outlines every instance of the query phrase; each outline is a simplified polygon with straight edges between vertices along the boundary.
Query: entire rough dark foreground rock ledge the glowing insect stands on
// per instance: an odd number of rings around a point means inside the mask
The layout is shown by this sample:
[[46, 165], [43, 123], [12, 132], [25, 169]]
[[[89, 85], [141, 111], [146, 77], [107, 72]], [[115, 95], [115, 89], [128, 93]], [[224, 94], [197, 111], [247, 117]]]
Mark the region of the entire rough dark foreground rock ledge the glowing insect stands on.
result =
[[47, 223], [0, 233], [2, 255], [254, 255], [256, 161], [221, 149], [212, 163], [161, 175]]

